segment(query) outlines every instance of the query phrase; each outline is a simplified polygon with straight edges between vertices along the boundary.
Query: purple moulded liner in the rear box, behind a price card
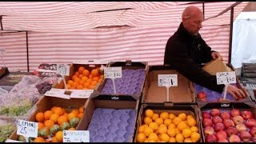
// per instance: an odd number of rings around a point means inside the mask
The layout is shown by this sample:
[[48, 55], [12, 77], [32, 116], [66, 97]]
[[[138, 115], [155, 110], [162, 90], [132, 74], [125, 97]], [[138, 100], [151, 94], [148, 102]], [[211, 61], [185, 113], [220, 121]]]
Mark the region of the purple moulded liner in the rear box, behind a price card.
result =
[[[117, 94], [140, 94], [145, 79], [145, 70], [122, 70], [122, 78], [115, 78]], [[112, 79], [107, 79], [101, 94], [114, 94]]]

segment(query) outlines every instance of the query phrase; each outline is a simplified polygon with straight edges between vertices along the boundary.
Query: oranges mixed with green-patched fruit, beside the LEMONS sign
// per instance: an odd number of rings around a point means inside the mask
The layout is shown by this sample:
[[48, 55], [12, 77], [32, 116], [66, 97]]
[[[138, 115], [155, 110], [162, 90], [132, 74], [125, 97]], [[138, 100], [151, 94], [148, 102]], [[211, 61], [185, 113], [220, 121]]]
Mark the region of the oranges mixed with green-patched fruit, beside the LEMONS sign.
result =
[[83, 106], [71, 110], [70, 113], [58, 106], [54, 106], [45, 112], [38, 112], [36, 114], [38, 138], [35, 138], [33, 142], [62, 142], [62, 131], [76, 130], [75, 128], [82, 119], [83, 112]]

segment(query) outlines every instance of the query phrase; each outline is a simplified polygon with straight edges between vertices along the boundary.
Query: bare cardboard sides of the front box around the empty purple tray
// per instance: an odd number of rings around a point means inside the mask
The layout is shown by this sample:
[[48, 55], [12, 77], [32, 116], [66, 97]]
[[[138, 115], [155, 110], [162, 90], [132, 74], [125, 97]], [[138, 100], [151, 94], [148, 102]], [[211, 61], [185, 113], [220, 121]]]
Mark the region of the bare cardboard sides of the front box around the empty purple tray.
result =
[[[136, 113], [136, 118], [138, 116], [138, 101], [123, 101], [123, 100], [101, 100], [97, 98], [89, 98], [89, 100], [86, 102], [86, 110], [85, 110], [85, 115], [84, 118], [82, 119], [82, 122], [79, 123], [77, 130], [87, 130], [90, 121], [92, 119], [92, 116], [94, 114], [94, 110], [97, 108], [103, 108], [103, 109], [117, 109], [117, 110], [122, 110], [122, 109], [132, 109], [135, 110]], [[135, 122], [137, 119], [135, 119]], [[135, 130], [135, 126], [134, 126]], [[107, 132], [108, 133], [108, 132]], [[106, 133], [106, 134], [107, 134]], [[130, 139], [130, 142], [133, 141], [133, 138]]]

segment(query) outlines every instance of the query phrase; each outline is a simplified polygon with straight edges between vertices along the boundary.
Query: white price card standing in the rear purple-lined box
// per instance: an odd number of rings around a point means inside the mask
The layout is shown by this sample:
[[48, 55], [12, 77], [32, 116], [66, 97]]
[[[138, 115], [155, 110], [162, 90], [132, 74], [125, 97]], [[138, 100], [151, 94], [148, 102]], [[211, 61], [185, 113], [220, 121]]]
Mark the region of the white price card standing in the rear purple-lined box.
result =
[[122, 67], [105, 67], [105, 78], [122, 78]]

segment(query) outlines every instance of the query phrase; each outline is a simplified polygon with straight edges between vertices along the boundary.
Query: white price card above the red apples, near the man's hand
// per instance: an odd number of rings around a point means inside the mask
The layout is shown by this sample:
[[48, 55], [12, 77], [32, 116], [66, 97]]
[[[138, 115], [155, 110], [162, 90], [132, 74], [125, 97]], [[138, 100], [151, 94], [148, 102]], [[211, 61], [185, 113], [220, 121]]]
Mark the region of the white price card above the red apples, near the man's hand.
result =
[[230, 72], [218, 72], [216, 74], [217, 77], [217, 84], [230, 84], [230, 83], [236, 83], [236, 75], [235, 71]]

